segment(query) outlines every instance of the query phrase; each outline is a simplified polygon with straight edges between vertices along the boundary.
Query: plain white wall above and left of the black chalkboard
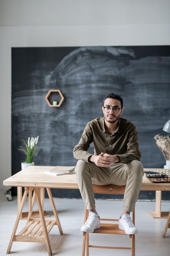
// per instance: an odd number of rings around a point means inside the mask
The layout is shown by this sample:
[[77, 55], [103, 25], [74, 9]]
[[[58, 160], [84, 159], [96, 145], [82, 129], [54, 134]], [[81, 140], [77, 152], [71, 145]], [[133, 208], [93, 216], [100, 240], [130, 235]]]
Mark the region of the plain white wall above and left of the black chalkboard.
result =
[[0, 0], [0, 189], [11, 176], [11, 47], [170, 45], [169, 10], [169, 0]]

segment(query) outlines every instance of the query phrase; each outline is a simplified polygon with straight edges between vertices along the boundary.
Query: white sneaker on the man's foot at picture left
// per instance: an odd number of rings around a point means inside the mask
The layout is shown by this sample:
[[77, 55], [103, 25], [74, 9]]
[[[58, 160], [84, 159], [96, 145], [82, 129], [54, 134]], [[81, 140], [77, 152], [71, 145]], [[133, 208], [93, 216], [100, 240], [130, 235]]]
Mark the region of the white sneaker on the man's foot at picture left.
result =
[[99, 229], [100, 227], [100, 216], [94, 212], [90, 212], [88, 215], [88, 219], [84, 223], [84, 225], [81, 228], [81, 231], [87, 232], [87, 233], [93, 233], [95, 229]]

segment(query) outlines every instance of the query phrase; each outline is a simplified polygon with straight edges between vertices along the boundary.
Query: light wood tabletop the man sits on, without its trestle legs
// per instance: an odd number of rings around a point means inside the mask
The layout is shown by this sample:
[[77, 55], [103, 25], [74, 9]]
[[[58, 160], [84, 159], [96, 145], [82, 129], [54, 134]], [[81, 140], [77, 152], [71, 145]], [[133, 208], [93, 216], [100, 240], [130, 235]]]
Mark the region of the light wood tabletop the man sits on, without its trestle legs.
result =
[[[3, 184], [5, 186], [78, 189], [75, 173], [58, 176], [47, 174], [46, 171], [49, 171], [51, 167], [52, 166], [29, 166], [25, 170], [19, 171], [4, 180]], [[144, 168], [144, 171], [147, 170], [163, 171], [163, 169]], [[170, 183], [152, 183], [144, 175], [141, 191], [170, 191]]]

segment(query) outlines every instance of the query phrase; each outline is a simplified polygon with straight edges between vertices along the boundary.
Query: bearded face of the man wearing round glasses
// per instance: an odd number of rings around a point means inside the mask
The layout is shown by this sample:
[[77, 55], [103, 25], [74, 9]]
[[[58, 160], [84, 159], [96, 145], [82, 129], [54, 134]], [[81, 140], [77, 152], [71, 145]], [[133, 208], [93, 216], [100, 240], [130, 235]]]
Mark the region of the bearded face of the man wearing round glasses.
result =
[[[106, 112], [104, 110], [104, 107], [110, 107], [110, 111]], [[113, 108], [119, 108], [119, 111], [117, 113], [114, 113]], [[124, 108], [121, 109], [121, 103], [118, 99], [108, 98], [108, 99], [105, 99], [104, 101], [104, 106], [102, 107], [102, 111], [106, 121], [108, 121], [109, 123], [115, 123], [123, 113]]]

